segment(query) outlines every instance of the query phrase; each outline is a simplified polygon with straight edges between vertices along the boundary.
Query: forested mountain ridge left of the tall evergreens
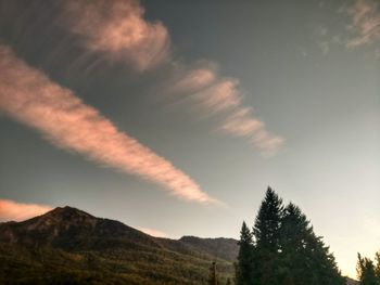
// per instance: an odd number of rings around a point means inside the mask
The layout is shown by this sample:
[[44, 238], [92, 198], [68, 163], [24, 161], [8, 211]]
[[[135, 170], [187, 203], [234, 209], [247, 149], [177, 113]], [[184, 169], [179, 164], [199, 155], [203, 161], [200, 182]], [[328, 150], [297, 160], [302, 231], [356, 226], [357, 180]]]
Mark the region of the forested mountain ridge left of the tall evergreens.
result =
[[159, 238], [118, 221], [55, 208], [0, 223], [0, 284], [220, 284], [233, 276], [232, 238]]

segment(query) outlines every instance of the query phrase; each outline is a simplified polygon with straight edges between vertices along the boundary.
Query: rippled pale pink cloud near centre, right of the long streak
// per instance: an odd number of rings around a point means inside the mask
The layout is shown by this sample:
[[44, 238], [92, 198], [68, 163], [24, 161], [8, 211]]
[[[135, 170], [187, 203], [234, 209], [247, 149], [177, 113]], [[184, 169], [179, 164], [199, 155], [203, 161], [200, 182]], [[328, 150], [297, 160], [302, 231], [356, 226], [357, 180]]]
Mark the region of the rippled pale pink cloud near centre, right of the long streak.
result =
[[253, 109], [243, 105], [239, 80], [220, 77], [215, 64], [200, 65], [178, 70], [168, 83], [174, 103], [190, 103], [205, 116], [220, 115], [218, 131], [248, 139], [264, 156], [275, 155], [284, 140], [270, 134]]

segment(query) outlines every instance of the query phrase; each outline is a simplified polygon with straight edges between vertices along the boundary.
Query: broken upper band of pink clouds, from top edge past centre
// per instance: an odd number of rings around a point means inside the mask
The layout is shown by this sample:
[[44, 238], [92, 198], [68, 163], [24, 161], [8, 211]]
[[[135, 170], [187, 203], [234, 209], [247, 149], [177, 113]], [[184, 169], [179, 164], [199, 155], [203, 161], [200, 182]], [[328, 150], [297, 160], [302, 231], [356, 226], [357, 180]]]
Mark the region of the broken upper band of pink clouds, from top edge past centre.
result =
[[[83, 38], [83, 43], [89, 51], [132, 62], [140, 70], [163, 62], [172, 63], [176, 75], [169, 80], [169, 86], [170, 92], [177, 94], [176, 103], [191, 100], [206, 117], [233, 109], [240, 114], [245, 109], [238, 89], [239, 80], [220, 77], [216, 65], [210, 62], [199, 68], [190, 68], [176, 61], [169, 52], [167, 28], [160, 22], [145, 21], [143, 8], [138, 1], [73, 0], [64, 3], [68, 18], [66, 27]], [[275, 154], [283, 143], [281, 138], [269, 134], [264, 124], [259, 129], [238, 127], [235, 117], [236, 115], [226, 117], [223, 125], [228, 126], [218, 129], [237, 135], [239, 131], [236, 129], [244, 128], [245, 134], [242, 135], [240, 131], [238, 137], [249, 138], [265, 153]], [[246, 114], [243, 124], [252, 125], [256, 120]]]

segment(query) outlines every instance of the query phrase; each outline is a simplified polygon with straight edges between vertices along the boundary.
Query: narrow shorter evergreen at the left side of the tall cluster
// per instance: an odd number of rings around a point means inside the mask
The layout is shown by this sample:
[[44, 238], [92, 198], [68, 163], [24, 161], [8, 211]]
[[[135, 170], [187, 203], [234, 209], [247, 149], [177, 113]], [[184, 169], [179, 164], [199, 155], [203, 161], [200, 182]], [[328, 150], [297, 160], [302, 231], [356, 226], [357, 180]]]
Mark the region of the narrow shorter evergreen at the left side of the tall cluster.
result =
[[253, 256], [253, 241], [252, 233], [243, 222], [240, 231], [240, 241], [238, 263], [236, 264], [236, 282], [237, 285], [252, 284], [252, 256]]

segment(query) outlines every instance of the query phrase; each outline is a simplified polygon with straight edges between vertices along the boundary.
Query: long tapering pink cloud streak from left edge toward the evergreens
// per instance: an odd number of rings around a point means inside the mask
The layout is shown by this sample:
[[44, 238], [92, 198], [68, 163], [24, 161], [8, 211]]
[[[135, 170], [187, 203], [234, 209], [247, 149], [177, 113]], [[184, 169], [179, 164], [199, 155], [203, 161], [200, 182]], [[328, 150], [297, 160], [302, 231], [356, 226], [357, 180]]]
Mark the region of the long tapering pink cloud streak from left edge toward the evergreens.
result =
[[0, 111], [55, 145], [139, 176], [179, 198], [217, 203], [187, 174], [117, 128], [71, 90], [52, 82], [0, 46]]

